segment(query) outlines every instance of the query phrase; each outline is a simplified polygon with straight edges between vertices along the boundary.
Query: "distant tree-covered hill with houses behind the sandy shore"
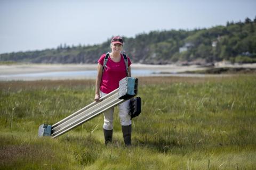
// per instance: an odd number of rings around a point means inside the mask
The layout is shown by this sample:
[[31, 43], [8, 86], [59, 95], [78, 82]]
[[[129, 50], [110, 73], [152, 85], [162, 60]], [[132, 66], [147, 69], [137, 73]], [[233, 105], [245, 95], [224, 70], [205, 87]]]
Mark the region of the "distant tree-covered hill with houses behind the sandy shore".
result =
[[[140, 33], [124, 38], [124, 50], [133, 63], [212, 63], [230, 61], [256, 62], [256, 18], [227, 22], [209, 29], [169, 30]], [[102, 53], [110, 51], [110, 39], [93, 46], [60, 45], [55, 49], [5, 53], [1, 62], [26, 63], [97, 63]]]

